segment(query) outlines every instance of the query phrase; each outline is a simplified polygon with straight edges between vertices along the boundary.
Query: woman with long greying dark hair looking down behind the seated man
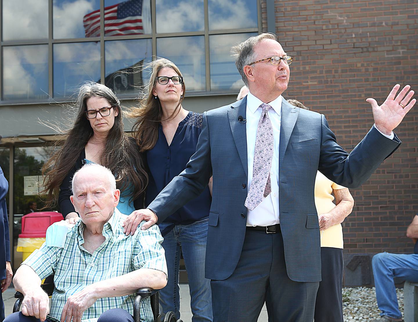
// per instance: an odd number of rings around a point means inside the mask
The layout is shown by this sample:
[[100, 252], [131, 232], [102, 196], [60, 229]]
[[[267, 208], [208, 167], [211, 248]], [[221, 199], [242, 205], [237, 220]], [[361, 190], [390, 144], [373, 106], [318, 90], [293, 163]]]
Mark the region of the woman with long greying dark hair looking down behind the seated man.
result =
[[44, 193], [50, 204], [58, 203], [64, 219], [78, 220], [71, 204], [71, 179], [86, 163], [106, 166], [121, 190], [117, 209], [130, 214], [142, 207], [140, 197], [148, 182], [143, 158], [133, 138], [123, 131], [122, 110], [115, 93], [103, 84], [87, 82], [80, 87], [76, 116], [61, 147], [43, 166]]

